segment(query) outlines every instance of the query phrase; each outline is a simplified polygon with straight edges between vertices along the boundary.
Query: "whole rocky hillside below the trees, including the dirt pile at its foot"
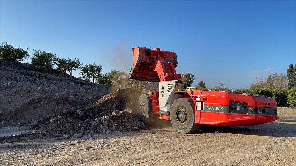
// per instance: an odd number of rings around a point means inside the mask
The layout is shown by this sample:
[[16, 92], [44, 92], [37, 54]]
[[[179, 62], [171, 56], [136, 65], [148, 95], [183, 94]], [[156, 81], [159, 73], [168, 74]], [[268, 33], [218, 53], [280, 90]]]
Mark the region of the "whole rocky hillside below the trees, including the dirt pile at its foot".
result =
[[141, 95], [134, 89], [112, 92], [109, 86], [30, 70], [0, 67], [0, 72], [1, 127], [32, 130], [1, 142], [147, 129], [131, 114]]

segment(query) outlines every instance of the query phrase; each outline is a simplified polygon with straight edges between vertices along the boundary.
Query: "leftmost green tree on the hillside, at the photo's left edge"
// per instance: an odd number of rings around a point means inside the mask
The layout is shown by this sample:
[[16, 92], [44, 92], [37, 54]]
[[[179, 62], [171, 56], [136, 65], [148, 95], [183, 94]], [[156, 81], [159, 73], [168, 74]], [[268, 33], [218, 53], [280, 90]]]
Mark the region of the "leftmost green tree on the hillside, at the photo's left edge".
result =
[[14, 68], [15, 62], [28, 59], [29, 56], [28, 48], [23, 50], [20, 47], [15, 48], [13, 45], [4, 42], [0, 46], [0, 61], [12, 63], [12, 68]]

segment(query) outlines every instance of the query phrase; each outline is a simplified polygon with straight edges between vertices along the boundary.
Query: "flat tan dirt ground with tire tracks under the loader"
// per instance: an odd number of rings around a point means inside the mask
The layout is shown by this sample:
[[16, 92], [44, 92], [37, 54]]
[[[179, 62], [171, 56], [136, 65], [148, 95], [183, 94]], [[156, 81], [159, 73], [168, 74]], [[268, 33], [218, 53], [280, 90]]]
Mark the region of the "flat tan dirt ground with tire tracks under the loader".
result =
[[2, 143], [0, 165], [296, 165], [296, 109], [278, 108], [278, 115], [195, 134], [168, 127]]

